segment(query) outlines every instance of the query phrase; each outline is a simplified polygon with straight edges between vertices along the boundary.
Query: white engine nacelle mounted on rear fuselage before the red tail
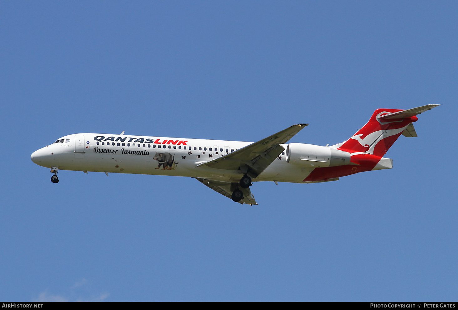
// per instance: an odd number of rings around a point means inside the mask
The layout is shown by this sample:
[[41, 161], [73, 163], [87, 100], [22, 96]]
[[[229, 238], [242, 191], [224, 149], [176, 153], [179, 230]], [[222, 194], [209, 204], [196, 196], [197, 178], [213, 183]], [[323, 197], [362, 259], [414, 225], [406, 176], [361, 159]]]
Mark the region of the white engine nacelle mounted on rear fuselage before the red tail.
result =
[[327, 146], [290, 143], [286, 148], [286, 161], [302, 167], [333, 167], [350, 164], [350, 153]]

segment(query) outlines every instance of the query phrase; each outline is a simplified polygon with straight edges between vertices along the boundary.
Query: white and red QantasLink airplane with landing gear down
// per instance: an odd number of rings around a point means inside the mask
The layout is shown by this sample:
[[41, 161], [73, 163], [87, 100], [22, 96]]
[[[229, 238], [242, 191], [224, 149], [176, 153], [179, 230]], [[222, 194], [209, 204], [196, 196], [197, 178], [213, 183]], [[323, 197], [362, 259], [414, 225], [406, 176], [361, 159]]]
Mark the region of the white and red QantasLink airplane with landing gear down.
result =
[[393, 168], [383, 157], [402, 134], [417, 137], [418, 114], [438, 104], [409, 110], [377, 109], [356, 134], [332, 146], [289, 143], [308, 124], [296, 124], [257, 142], [183, 139], [121, 134], [70, 134], [36, 150], [31, 160], [59, 170], [193, 177], [241, 204], [257, 205], [253, 182], [317, 183]]

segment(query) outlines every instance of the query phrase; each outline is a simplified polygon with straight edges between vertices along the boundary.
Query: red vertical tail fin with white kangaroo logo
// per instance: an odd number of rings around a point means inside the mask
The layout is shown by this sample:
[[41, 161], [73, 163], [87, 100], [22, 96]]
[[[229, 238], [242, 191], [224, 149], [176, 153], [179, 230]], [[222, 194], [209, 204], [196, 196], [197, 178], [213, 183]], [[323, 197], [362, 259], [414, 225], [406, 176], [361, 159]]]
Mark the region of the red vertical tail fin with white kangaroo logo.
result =
[[[411, 116], [398, 119], [381, 119], [383, 115], [398, 111], [395, 109], [377, 109], [371, 119], [356, 134], [344, 142], [338, 150], [350, 153], [364, 152], [383, 156], [402, 134], [409, 123], [416, 122], [417, 117]], [[407, 110], [406, 110], [407, 111]]]

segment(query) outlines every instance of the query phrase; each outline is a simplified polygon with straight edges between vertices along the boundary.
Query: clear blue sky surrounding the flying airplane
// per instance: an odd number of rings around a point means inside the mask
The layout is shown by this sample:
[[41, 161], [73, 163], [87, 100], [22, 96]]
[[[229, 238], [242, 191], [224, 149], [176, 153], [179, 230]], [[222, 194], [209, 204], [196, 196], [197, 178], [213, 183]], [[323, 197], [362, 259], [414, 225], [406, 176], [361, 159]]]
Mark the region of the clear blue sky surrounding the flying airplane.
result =
[[[0, 299], [456, 300], [455, 1], [0, 2]], [[348, 139], [441, 104], [394, 169], [255, 183], [49, 169], [67, 134]]]

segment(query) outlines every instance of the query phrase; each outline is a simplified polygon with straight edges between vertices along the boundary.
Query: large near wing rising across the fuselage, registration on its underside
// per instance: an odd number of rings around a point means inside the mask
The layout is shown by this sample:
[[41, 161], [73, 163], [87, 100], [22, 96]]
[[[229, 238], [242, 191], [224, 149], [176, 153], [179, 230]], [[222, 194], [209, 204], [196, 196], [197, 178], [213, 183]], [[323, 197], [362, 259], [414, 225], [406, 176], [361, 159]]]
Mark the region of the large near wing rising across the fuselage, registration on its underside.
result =
[[280, 144], [288, 142], [289, 139], [307, 125], [297, 124], [290, 126], [266, 139], [259, 140], [235, 152], [197, 166], [208, 166], [225, 170], [239, 170], [240, 168], [243, 173], [256, 178], [284, 151], [284, 147]]

